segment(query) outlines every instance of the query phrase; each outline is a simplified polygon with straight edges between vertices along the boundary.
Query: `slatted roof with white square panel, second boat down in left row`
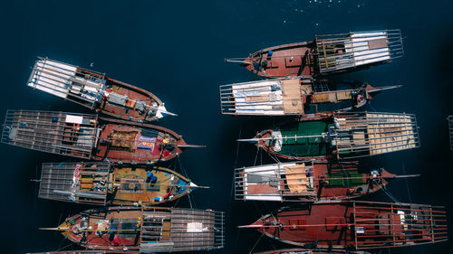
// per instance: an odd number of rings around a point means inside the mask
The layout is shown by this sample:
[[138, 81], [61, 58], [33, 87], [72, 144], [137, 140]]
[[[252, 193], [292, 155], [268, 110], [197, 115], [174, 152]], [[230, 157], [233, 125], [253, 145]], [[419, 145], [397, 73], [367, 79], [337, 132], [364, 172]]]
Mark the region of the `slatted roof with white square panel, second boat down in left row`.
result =
[[90, 158], [99, 129], [95, 115], [8, 109], [2, 143], [32, 150]]

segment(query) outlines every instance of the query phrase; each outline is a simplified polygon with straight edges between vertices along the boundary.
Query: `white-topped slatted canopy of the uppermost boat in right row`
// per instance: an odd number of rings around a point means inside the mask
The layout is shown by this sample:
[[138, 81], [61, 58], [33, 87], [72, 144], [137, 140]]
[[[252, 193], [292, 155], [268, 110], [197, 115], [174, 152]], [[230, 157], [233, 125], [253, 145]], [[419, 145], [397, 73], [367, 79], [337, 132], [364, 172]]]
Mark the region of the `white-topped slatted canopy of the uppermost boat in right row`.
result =
[[399, 29], [316, 35], [321, 74], [389, 62], [403, 55]]

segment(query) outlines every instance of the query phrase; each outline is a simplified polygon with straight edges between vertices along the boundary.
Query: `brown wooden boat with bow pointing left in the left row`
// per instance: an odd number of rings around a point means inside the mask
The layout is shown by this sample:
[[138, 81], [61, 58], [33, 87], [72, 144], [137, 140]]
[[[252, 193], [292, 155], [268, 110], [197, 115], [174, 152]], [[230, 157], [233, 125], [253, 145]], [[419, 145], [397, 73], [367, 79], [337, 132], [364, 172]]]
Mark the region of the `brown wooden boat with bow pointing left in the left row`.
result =
[[87, 249], [140, 253], [221, 249], [224, 212], [161, 207], [108, 207], [67, 218], [57, 228]]

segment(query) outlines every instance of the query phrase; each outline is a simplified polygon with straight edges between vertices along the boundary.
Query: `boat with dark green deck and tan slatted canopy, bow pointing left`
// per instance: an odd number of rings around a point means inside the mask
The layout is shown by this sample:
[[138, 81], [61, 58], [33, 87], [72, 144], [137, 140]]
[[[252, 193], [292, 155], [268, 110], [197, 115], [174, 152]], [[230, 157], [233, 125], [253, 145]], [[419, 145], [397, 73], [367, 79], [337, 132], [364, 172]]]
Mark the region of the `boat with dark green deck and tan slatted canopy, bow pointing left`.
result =
[[351, 159], [419, 147], [419, 133], [414, 115], [340, 112], [313, 114], [238, 141], [285, 159]]

